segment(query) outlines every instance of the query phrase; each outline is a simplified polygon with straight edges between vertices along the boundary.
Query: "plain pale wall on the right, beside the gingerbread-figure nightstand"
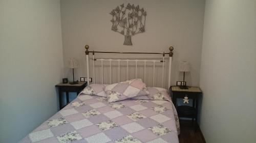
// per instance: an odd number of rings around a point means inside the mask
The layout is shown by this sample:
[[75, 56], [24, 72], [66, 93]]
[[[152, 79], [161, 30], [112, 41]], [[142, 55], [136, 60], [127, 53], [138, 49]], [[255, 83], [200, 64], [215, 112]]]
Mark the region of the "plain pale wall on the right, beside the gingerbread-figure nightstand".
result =
[[256, 1], [206, 1], [200, 127], [206, 142], [256, 140]]

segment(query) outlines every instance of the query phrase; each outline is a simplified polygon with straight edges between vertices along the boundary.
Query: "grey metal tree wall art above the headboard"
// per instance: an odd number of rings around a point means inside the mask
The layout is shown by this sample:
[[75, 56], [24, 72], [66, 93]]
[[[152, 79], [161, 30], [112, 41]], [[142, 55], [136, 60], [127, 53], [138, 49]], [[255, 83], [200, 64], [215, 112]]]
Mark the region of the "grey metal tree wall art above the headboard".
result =
[[133, 45], [131, 36], [145, 32], [146, 12], [139, 5], [124, 4], [117, 6], [110, 13], [112, 15], [111, 30], [124, 35], [123, 45]]

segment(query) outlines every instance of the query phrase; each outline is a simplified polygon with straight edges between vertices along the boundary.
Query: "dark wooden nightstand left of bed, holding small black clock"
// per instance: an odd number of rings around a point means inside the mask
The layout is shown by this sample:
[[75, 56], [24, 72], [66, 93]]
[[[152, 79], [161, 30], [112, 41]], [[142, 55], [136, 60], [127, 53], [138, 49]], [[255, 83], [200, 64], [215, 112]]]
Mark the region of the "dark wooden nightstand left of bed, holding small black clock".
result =
[[[87, 86], [87, 82], [78, 82], [78, 84], [70, 84], [70, 83], [59, 83], [55, 85], [58, 88], [59, 92], [59, 109], [62, 109], [69, 103], [69, 92], [76, 92], [76, 95], [80, 93]], [[62, 92], [66, 92], [67, 104], [62, 106]]]

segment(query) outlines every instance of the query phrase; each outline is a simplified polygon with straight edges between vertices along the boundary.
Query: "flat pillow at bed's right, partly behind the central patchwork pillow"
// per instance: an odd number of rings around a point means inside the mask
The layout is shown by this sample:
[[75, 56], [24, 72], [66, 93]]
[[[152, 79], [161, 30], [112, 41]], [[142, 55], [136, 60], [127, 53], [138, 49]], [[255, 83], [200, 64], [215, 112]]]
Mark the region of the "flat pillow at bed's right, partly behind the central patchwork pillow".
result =
[[149, 92], [148, 95], [137, 96], [137, 97], [133, 97], [132, 99], [172, 101], [166, 89], [147, 87], [147, 91]]

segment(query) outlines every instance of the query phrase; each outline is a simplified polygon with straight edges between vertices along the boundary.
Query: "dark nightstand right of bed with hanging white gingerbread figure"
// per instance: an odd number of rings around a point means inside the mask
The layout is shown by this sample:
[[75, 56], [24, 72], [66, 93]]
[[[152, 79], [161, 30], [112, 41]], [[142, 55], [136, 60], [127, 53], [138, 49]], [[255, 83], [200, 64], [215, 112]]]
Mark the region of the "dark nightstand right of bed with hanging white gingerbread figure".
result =
[[[178, 116], [183, 118], [191, 118], [192, 121], [196, 121], [198, 116], [198, 98], [202, 95], [202, 91], [199, 87], [189, 87], [188, 89], [180, 89], [177, 86], [170, 87], [170, 93], [172, 96], [173, 103], [177, 109]], [[188, 106], [184, 103], [177, 106], [177, 99], [182, 98], [184, 101], [187, 98], [192, 102], [192, 106]]]

